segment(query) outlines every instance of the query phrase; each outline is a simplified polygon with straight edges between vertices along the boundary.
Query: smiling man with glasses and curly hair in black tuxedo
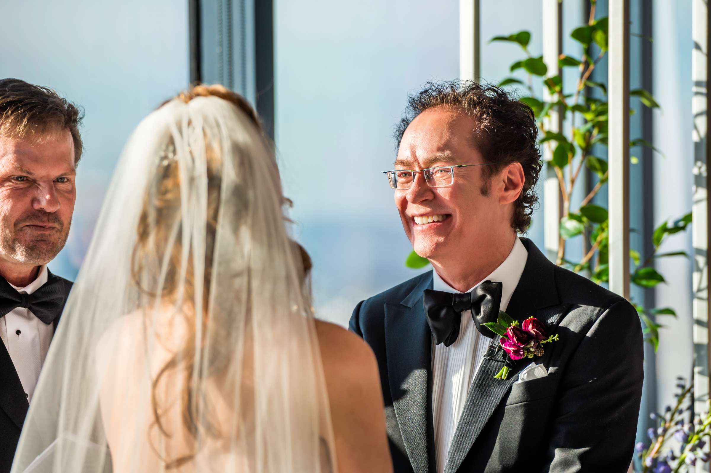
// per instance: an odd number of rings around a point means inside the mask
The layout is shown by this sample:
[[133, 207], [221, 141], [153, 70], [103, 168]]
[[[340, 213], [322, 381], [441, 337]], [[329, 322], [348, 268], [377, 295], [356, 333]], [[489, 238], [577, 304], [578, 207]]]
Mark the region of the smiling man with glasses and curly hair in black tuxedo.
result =
[[[395, 472], [629, 467], [641, 326], [624, 298], [518, 237], [537, 201], [537, 137], [527, 105], [470, 82], [425, 85], [397, 127], [388, 182], [433, 270], [360, 302], [350, 323], [378, 358]], [[501, 337], [483, 326], [499, 310], [559, 337], [508, 362], [506, 379]]]

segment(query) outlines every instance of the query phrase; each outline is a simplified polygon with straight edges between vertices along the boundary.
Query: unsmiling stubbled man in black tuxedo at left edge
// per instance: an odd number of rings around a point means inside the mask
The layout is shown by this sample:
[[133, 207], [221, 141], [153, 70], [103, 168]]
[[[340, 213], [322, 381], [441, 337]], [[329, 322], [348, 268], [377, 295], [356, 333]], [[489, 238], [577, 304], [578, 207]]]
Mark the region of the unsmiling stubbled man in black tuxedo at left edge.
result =
[[53, 90], [0, 80], [0, 473], [10, 471], [72, 285], [47, 263], [72, 221], [81, 119]]

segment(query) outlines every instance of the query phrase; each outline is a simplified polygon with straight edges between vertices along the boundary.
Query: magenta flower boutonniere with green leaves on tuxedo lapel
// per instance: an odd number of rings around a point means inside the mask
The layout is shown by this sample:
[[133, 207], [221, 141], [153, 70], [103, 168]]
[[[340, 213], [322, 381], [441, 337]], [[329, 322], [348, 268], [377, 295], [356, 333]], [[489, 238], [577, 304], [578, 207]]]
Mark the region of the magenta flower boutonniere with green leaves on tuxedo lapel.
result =
[[497, 351], [501, 348], [507, 354], [503, 368], [494, 376], [496, 379], [506, 379], [513, 361], [541, 356], [544, 352], [544, 344], [558, 340], [558, 334], [547, 336], [545, 324], [535, 317], [528, 317], [523, 324], [519, 324], [518, 320], [514, 320], [506, 312], [499, 311], [498, 321], [482, 325], [495, 334], [501, 335]]

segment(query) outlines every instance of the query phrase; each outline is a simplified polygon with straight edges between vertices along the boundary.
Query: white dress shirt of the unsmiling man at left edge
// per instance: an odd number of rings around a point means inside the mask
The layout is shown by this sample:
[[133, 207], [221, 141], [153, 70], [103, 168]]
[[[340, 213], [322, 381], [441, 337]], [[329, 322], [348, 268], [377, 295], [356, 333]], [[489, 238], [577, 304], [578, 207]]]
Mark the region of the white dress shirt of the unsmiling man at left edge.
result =
[[[47, 282], [47, 267], [40, 269], [37, 279], [25, 287], [14, 287], [18, 292], [32, 294]], [[0, 317], [0, 339], [10, 354], [28, 402], [32, 400], [40, 370], [44, 363], [54, 324], [45, 324], [29, 309], [17, 307]]]

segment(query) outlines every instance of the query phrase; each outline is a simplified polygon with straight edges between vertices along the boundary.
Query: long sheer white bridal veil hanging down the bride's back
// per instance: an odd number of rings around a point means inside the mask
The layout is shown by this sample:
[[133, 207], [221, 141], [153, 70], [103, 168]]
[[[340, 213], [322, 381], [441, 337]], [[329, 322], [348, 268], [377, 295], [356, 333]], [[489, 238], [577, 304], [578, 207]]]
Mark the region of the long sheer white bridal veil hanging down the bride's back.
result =
[[12, 473], [333, 471], [309, 289], [283, 205], [271, 147], [232, 103], [175, 99], [146, 117]]

